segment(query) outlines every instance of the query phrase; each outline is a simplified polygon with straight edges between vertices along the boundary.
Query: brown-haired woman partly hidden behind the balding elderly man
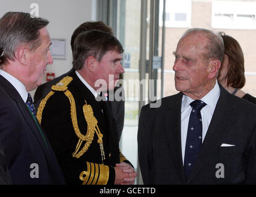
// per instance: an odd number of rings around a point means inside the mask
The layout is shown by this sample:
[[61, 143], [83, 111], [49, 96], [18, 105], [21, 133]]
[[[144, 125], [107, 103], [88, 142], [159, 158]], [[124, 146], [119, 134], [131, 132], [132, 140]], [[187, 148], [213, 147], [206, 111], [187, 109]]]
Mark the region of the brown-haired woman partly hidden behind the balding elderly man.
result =
[[220, 73], [218, 75], [218, 82], [220, 82], [229, 93], [256, 104], [255, 97], [241, 90], [245, 84], [245, 75], [244, 54], [239, 42], [233, 37], [226, 35], [224, 32], [220, 32], [219, 34], [223, 38], [225, 50]]

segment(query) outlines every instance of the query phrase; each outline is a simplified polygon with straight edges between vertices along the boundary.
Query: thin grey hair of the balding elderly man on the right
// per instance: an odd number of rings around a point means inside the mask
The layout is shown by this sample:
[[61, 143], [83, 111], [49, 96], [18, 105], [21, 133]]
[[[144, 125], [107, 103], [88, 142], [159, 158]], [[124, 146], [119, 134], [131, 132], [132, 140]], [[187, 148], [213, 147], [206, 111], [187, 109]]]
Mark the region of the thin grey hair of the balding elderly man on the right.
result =
[[191, 28], [183, 34], [182, 38], [184, 38], [188, 34], [195, 34], [195, 33], [203, 33], [208, 38], [209, 42], [207, 46], [205, 46], [205, 49], [207, 50], [207, 53], [204, 54], [205, 57], [210, 60], [215, 59], [215, 60], [220, 60], [220, 62], [222, 62], [224, 57], [224, 42], [221, 35], [204, 28]]

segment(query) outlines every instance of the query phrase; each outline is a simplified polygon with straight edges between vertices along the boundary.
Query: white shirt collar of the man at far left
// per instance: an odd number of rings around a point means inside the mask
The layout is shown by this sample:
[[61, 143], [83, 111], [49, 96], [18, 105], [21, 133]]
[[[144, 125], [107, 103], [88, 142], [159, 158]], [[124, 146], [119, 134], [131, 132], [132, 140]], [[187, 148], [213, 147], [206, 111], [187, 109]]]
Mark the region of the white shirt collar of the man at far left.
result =
[[6, 73], [6, 71], [3, 71], [0, 69], [0, 74], [6, 78], [7, 81], [9, 81], [12, 86], [15, 87], [15, 89], [19, 92], [20, 97], [22, 97], [22, 100], [25, 102], [27, 102], [27, 98], [28, 98], [28, 92], [26, 87], [22, 84], [22, 82], [20, 82], [18, 79], [16, 79], [14, 76], [12, 76], [9, 73]]

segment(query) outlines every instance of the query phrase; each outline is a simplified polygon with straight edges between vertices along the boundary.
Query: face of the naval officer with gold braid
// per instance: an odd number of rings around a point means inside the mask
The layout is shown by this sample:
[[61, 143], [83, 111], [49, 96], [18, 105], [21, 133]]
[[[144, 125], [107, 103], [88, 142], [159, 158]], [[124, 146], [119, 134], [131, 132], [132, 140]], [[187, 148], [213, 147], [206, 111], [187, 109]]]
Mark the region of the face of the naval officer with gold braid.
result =
[[[96, 63], [95, 67], [95, 81], [98, 81], [102, 87], [101, 90], [112, 90], [119, 81], [120, 74], [124, 73], [124, 68], [121, 64], [122, 54], [111, 50], [101, 58], [100, 62]], [[96, 82], [97, 83], [97, 82]], [[97, 85], [96, 85], [97, 86]], [[99, 87], [96, 87], [98, 89]]]

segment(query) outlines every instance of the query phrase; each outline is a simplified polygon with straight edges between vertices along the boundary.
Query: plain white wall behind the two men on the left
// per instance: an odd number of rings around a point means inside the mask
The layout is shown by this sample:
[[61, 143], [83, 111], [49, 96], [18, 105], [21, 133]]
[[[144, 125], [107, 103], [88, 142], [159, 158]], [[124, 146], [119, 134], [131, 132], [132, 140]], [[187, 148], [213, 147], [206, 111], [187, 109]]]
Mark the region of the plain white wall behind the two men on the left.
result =
[[[32, 3], [38, 4], [39, 17], [49, 20], [47, 26], [51, 38], [66, 39], [66, 60], [54, 59], [47, 72], [58, 77], [72, 67], [70, 39], [75, 28], [81, 23], [96, 20], [95, 0], [0, 0], [0, 17], [9, 11], [30, 13]], [[46, 78], [43, 78], [43, 82]], [[32, 97], [35, 90], [31, 92]]]

